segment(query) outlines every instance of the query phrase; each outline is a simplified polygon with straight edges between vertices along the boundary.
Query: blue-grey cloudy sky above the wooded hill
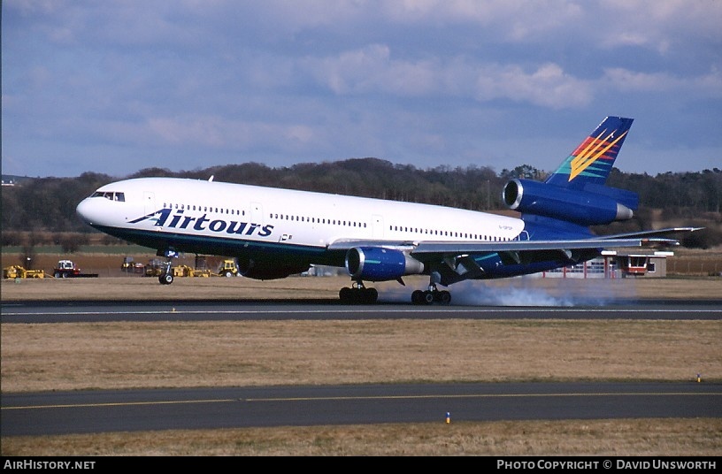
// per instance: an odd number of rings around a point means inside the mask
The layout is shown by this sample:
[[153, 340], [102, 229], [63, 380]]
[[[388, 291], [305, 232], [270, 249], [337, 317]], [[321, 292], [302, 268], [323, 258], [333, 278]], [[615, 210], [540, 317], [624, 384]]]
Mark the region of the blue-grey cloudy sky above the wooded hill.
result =
[[2, 172], [722, 168], [720, 0], [4, 0]]

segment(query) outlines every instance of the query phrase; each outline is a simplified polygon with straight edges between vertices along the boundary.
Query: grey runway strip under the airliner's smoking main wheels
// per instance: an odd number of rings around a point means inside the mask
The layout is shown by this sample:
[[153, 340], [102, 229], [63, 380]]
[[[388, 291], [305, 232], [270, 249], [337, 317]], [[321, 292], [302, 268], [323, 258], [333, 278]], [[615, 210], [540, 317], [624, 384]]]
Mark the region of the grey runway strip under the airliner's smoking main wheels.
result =
[[337, 300], [4, 302], [0, 322], [240, 321], [328, 319], [722, 319], [722, 300], [619, 302], [606, 306], [342, 305]]

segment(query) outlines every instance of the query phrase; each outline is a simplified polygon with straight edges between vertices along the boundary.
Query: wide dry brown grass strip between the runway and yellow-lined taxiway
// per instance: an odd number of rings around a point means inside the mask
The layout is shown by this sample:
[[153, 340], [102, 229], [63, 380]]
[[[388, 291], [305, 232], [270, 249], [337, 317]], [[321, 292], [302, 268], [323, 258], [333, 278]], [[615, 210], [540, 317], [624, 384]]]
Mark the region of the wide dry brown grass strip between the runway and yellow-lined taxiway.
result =
[[[399, 381], [722, 380], [718, 321], [4, 325], [3, 392]], [[590, 348], [594, 348], [591, 350]]]

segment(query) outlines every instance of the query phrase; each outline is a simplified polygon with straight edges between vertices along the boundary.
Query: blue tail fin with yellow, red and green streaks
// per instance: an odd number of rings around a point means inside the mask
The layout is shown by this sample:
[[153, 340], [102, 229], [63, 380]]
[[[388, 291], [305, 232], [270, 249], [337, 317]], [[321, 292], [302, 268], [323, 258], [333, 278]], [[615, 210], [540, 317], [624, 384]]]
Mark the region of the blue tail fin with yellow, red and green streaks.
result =
[[545, 181], [558, 187], [603, 186], [634, 119], [607, 117]]

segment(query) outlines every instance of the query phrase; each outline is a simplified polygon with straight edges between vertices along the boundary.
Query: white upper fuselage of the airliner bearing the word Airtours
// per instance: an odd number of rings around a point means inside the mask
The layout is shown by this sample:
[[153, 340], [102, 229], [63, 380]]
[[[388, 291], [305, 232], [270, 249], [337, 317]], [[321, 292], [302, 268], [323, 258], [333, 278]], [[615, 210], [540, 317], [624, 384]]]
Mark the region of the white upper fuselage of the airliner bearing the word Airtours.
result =
[[337, 241], [511, 241], [519, 218], [206, 180], [139, 178], [78, 205], [91, 226], [326, 248]]

